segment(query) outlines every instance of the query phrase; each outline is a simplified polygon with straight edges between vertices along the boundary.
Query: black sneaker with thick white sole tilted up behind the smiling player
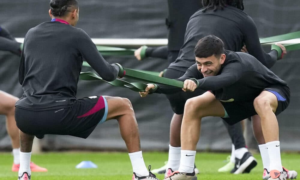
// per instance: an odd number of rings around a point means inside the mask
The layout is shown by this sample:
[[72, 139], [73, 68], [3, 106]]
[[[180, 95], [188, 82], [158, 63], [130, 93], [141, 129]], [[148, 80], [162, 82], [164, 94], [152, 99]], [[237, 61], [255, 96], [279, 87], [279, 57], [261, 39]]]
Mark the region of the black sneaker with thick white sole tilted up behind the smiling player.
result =
[[234, 168], [230, 171], [233, 174], [250, 173], [257, 165], [256, 159], [250, 152], [246, 152], [241, 159], [235, 158]]

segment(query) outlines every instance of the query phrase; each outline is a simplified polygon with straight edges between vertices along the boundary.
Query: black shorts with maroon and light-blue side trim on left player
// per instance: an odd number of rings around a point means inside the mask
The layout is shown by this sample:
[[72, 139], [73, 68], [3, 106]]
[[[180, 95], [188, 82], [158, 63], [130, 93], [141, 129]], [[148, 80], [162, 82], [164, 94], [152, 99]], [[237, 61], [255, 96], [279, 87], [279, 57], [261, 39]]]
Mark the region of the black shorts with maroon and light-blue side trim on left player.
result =
[[17, 127], [25, 134], [43, 138], [44, 134], [87, 138], [107, 118], [107, 101], [102, 96], [78, 99], [68, 108], [27, 110], [16, 107]]

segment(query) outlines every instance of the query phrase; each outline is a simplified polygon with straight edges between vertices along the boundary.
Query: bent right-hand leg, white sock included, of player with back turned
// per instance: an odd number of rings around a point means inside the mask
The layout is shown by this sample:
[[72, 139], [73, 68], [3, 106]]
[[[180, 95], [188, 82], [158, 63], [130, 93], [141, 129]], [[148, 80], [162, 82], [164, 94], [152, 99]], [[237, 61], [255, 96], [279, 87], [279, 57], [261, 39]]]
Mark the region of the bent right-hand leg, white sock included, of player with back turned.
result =
[[110, 96], [104, 96], [104, 98], [108, 106], [107, 120], [116, 119], [119, 123], [120, 133], [128, 149], [134, 172], [133, 180], [152, 178], [143, 159], [139, 129], [131, 102], [127, 98]]

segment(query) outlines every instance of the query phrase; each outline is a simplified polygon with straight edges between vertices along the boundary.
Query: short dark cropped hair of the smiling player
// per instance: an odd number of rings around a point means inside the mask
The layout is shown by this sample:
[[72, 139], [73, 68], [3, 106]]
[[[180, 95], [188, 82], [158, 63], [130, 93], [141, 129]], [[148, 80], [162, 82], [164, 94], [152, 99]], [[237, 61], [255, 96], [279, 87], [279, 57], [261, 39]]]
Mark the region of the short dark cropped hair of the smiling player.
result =
[[224, 53], [224, 43], [217, 36], [208, 35], [200, 39], [195, 47], [195, 56], [198, 58], [207, 58], [216, 56], [217, 58]]

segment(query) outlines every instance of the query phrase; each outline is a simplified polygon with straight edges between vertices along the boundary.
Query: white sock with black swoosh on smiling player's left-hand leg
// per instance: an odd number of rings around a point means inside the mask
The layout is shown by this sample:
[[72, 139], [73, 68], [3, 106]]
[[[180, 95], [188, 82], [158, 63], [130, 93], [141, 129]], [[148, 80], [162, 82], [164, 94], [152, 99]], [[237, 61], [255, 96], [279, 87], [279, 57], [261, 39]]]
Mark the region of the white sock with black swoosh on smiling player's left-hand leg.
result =
[[195, 164], [196, 151], [181, 150], [180, 173], [193, 173]]

